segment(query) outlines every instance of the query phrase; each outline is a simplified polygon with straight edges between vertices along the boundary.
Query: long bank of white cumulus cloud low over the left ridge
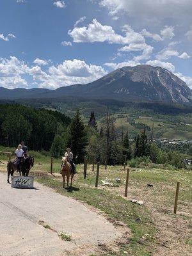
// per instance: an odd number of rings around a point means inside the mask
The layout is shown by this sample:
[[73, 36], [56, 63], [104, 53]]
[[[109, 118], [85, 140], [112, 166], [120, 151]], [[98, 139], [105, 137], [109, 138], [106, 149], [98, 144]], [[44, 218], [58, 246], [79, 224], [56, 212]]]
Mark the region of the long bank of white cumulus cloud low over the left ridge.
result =
[[[29, 67], [15, 56], [10, 59], [0, 58], [0, 86], [6, 88], [28, 88], [26, 75], [32, 76], [33, 81], [41, 88], [58, 88], [77, 83], [90, 83], [107, 74], [104, 68], [97, 65], [88, 65], [83, 60], [65, 60], [60, 65], [47, 68], [43, 71], [39, 61], [37, 65]], [[38, 62], [38, 63], [37, 63]]]

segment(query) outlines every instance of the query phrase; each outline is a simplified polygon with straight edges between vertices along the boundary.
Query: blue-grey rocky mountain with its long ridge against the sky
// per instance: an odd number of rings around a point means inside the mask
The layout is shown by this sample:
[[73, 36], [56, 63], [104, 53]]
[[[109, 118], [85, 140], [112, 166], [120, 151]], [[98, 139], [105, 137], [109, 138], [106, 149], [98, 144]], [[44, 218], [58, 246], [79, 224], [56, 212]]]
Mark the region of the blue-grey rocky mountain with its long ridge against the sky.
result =
[[47, 89], [0, 88], [0, 99], [83, 97], [124, 101], [191, 103], [192, 90], [172, 72], [161, 67], [138, 65], [119, 68], [89, 84]]

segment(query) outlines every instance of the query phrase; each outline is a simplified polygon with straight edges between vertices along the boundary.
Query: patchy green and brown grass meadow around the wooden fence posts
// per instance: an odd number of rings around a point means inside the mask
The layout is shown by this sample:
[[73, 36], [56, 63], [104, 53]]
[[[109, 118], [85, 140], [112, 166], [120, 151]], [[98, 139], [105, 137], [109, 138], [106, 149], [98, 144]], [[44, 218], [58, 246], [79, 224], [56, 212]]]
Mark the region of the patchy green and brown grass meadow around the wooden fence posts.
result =
[[[13, 152], [13, 148], [0, 147], [1, 151]], [[80, 200], [91, 209], [97, 209], [114, 225], [126, 225], [121, 241], [114, 246], [99, 246], [96, 255], [182, 255], [191, 252], [191, 180], [190, 170], [164, 170], [161, 166], [130, 168], [128, 196], [124, 197], [126, 170], [122, 166], [100, 166], [99, 186], [95, 188], [96, 166], [88, 164], [84, 179], [83, 164], [77, 165], [72, 188], [62, 188], [60, 159], [53, 159], [53, 173], [50, 173], [51, 156], [30, 152], [35, 157], [35, 166], [30, 174], [35, 180], [64, 196]], [[0, 171], [6, 172], [7, 156], [0, 155]], [[116, 178], [120, 182], [116, 182]], [[102, 186], [102, 180], [113, 186]], [[173, 214], [175, 189], [180, 181], [177, 214]], [[6, 182], [6, 179], [4, 180]], [[150, 184], [152, 186], [147, 186]], [[130, 200], [142, 200], [143, 205]], [[95, 255], [95, 256], [96, 256]], [[90, 255], [91, 256], [91, 255]], [[93, 255], [92, 255], [93, 256]]]

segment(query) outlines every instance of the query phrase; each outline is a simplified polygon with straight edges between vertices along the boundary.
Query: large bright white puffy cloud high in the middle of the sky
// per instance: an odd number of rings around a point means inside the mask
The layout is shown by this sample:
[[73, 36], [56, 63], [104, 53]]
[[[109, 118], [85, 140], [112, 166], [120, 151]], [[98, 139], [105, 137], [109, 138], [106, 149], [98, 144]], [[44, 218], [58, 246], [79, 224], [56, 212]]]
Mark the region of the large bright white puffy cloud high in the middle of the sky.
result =
[[145, 42], [145, 38], [140, 33], [135, 32], [131, 26], [125, 25], [123, 28], [125, 36], [115, 33], [111, 26], [100, 24], [93, 19], [87, 27], [74, 28], [68, 31], [74, 42], [109, 42], [109, 44], [141, 44]]

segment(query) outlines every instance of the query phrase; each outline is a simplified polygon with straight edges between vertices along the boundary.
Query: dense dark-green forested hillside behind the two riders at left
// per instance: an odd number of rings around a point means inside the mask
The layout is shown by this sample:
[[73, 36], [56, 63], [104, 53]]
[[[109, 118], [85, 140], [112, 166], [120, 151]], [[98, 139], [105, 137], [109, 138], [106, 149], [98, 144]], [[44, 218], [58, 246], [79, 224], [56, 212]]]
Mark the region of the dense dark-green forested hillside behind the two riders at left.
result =
[[33, 150], [49, 150], [56, 133], [68, 124], [70, 118], [58, 111], [0, 104], [0, 145], [17, 147], [24, 140]]

